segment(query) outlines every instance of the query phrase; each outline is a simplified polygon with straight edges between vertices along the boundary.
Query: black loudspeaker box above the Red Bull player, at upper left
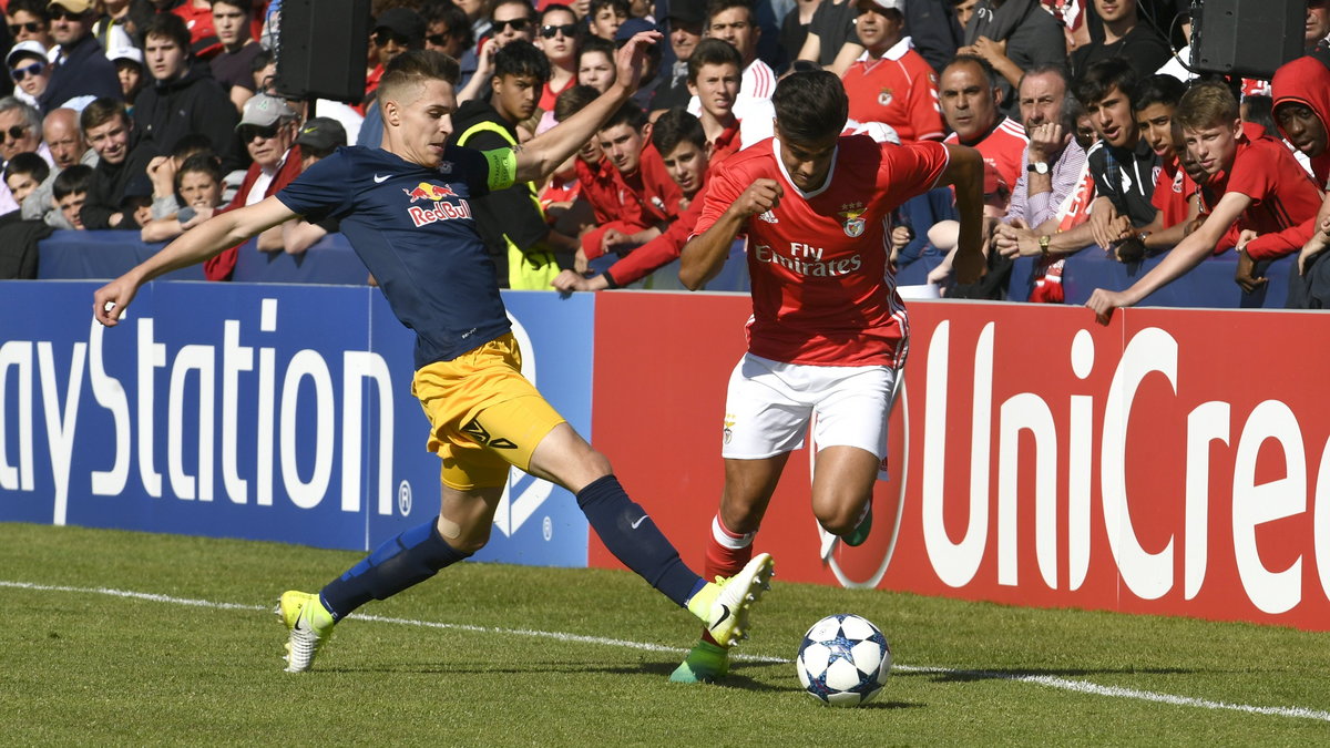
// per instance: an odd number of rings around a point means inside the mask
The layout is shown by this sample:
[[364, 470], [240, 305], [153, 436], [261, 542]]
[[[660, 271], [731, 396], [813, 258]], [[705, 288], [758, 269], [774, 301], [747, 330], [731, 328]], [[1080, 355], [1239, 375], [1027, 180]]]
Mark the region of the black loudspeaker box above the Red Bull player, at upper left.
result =
[[359, 102], [368, 43], [370, 0], [283, 0], [277, 89], [294, 98]]

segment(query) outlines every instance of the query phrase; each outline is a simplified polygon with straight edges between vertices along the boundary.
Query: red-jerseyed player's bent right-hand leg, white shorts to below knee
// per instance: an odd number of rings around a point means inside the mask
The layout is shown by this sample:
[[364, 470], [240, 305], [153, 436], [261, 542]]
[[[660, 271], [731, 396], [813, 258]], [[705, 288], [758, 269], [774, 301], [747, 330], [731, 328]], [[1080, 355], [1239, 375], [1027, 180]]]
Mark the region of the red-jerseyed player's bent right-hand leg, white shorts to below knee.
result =
[[887, 418], [898, 378], [887, 366], [830, 374], [817, 405], [813, 514], [823, 530], [859, 546], [872, 527], [872, 487], [887, 454]]

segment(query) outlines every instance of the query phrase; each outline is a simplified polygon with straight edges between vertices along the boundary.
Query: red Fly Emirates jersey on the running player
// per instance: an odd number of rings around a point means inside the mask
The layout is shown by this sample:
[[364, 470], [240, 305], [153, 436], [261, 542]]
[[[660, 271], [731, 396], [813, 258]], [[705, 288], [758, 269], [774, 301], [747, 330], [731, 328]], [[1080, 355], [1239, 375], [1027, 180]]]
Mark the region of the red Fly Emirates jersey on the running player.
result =
[[774, 209], [749, 218], [753, 318], [749, 351], [787, 363], [904, 363], [910, 323], [887, 269], [891, 210], [932, 189], [947, 168], [939, 142], [878, 144], [842, 137], [826, 184], [790, 181], [775, 138], [732, 156], [708, 181], [693, 234], [706, 232], [749, 185], [775, 180]]

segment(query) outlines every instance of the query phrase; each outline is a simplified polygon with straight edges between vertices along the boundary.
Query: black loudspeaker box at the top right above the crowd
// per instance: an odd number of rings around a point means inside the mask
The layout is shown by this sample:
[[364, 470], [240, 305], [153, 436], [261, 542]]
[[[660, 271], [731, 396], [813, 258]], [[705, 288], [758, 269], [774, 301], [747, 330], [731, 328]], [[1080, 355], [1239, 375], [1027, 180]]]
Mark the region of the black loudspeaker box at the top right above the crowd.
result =
[[1302, 56], [1306, 0], [1192, 0], [1192, 68], [1270, 80]]

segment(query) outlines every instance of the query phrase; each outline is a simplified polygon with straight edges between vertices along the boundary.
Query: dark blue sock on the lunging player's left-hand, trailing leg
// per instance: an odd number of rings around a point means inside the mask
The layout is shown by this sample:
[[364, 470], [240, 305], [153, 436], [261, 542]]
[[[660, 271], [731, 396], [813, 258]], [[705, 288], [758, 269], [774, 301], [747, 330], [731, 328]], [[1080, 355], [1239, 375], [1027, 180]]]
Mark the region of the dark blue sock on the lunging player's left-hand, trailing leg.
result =
[[319, 592], [319, 602], [332, 614], [332, 620], [340, 620], [364, 603], [386, 600], [469, 555], [450, 546], [431, 519], [384, 542], [330, 582]]

